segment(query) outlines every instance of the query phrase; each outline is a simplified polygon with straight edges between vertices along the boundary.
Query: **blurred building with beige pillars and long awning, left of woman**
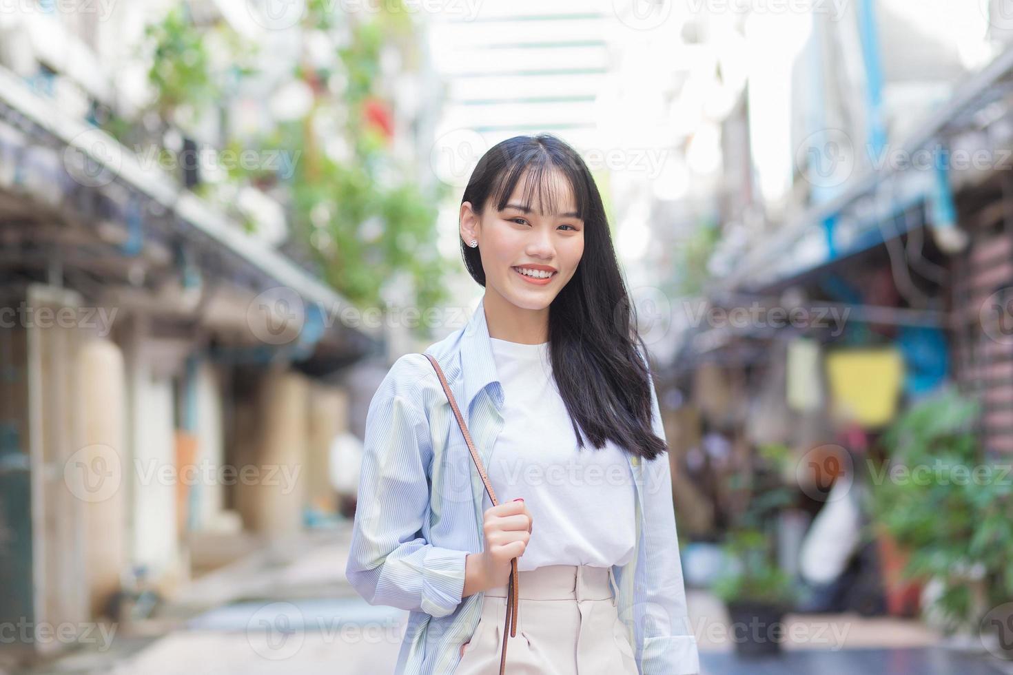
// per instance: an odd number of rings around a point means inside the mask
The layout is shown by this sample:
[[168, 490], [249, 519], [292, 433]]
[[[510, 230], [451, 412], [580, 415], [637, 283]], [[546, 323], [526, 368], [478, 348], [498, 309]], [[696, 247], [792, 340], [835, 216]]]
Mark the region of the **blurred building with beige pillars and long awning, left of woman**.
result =
[[[226, 207], [202, 191], [212, 172], [96, 128], [145, 104], [150, 64], [129, 47], [170, 3], [21, 4], [0, 13], [0, 621], [84, 627], [120, 618], [136, 584], [171, 595], [333, 514], [332, 441], [362, 406], [344, 374], [382, 360], [384, 335], [344, 323], [275, 195], [246, 186]], [[291, 35], [235, 3], [187, 6], [258, 31], [291, 72]], [[150, 120], [163, 136], [140, 147], [219, 147], [226, 121], [271, 113], [250, 96]], [[423, 136], [431, 104], [405, 108]]]

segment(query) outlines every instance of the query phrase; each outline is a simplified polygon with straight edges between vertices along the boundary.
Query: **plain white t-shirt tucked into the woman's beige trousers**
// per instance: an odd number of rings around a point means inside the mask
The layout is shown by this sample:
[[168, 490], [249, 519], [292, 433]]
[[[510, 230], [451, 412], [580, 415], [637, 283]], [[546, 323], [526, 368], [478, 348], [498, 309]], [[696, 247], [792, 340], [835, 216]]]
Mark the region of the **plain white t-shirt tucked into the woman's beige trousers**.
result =
[[[611, 441], [578, 448], [555, 379], [548, 342], [489, 338], [503, 388], [503, 427], [486, 467], [496, 499], [517, 497], [531, 512], [518, 570], [544, 565], [625, 565], [635, 547], [633, 477]], [[482, 511], [491, 508], [488, 494]]]

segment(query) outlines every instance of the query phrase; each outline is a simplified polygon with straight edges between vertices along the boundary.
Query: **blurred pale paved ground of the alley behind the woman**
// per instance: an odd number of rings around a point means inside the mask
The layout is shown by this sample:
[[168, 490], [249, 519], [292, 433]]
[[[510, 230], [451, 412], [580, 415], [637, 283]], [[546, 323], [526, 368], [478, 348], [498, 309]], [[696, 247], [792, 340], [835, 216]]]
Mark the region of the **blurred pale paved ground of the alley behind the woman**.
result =
[[[393, 672], [406, 612], [374, 607], [344, 581], [347, 526], [311, 533], [203, 577], [158, 620], [120, 630], [13, 675], [376, 675]], [[691, 592], [701, 675], [994, 675], [1008, 665], [960, 655], [918, 621], [787, 617], [785, 653], [743, 660], [723, 607]], [[2, 668], [0, 668], [2, 674]]]

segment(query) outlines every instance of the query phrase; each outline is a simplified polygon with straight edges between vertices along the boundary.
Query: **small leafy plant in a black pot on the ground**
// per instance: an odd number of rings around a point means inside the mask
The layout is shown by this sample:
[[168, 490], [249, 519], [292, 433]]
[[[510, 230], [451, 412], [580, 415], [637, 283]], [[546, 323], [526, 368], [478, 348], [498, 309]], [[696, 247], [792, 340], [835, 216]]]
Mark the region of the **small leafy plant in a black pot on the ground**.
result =
[[724, 549], [728, 565], [713, 591], [728, 610], [735, 652], [747, 657], [779, 653], [784, 614], [795, 598], [791, 579], [774, 564], [771, 544], [761, 530], [732, 531]]

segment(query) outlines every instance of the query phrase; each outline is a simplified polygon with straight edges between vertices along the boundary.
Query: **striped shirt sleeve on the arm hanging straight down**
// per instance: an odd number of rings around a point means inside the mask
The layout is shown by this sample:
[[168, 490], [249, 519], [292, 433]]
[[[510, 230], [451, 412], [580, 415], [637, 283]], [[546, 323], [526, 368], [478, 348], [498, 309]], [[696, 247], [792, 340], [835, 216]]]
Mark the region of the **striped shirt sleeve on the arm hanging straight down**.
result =
[[[651, 425], [665, 438], [661, 412], [648, 371]], [[647, 574], [643, 644], [639, 667], [642, 675], [692, 675], [700, 672], [696, 637], [686, 607], [686, 588], [676, 514], [672, 499], [669, 453], [643, 460], [644, 565]]]

